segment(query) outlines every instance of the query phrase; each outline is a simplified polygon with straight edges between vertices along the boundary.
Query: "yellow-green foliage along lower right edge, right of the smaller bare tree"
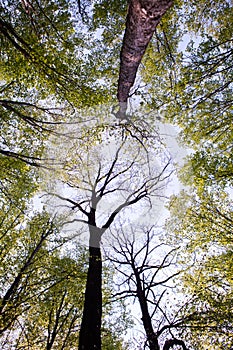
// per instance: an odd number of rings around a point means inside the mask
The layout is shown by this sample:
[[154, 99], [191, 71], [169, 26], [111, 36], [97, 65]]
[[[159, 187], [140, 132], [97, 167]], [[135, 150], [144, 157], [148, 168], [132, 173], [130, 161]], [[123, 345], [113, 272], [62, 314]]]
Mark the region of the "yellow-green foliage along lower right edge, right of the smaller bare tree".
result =
[[[219, 206], [221, 203], [221, 207]], [[181, 210], [180, 208], [183, 208]], [[183, 276], [182, 291], [190, 295], [185, 313], [195, 347], [232, 346], [232, 210], [227, 195], [196, 194], [174, 198], [169, 232], [183, 245], [181, 263], [191, 268]], [[182, 242], [186, 242], [185, 244]], [[193, 261], [193, 262], [192, 262]]]

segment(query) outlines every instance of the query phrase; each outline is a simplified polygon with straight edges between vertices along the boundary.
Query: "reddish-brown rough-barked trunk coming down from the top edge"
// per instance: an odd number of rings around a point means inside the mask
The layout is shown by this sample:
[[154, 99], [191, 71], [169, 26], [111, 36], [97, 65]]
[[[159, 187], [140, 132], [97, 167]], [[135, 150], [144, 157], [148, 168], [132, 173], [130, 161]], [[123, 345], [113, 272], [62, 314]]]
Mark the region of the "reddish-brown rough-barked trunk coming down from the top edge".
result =
[[171, 7], [172, 0], [130, 0], [126, 29], [120, 54], [120, 73], [117, 98], [123, 118], [127, 108], [130, 88], [133, 86], [138, 66], [146, 51], [156, 26]]

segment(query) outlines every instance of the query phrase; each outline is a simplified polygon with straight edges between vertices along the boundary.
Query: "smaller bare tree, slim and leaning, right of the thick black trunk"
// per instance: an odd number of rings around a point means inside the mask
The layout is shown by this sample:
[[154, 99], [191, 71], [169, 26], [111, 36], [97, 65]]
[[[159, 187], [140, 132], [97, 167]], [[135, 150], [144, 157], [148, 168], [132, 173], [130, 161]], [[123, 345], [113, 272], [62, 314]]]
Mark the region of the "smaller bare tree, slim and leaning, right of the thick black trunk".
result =
[[[108, 258], [114, 263], [123, 279], [120, 281], [120, 290], [115, 298], [136, 298], [140, 305], [142, 324], [146, 333], [146, 346], [150, 350], [160, 350], [159, 337], [169, 331], [172, 339], [165, 341], [162, 349], [168, 350], [174, 345], [180, 345], [187, 350], [183, 340], [172, 334], [172, 329], [179, 327], [182, 320], [175, 314], [171, 318], [163, 303], [164, 295], [169, 282], [178, 276], [175, 256], [178, 248], [168, 247], [155, 242], [154, 227], [143, 229], [144, 234], [139, 236], [137, 230], [131, 226], [130, 232], [121, 232], [115, 235], [116, 244]], [[138, 239], [140, 237], [140, 239]], [[122, 290], [123, 289], [123, 290]]]

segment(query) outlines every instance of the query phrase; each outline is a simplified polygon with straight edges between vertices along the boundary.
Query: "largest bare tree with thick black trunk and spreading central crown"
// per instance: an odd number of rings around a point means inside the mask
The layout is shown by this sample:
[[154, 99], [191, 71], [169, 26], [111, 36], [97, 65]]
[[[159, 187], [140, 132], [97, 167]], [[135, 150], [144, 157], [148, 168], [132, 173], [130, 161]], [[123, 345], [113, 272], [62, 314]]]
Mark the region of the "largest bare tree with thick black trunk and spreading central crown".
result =
[[[120, 145], [116, 139], [116, 144], [109, 148], [112, 153], [110, 157], [106, 157], [106, 147], [102, 154], [101, 146], [98, 144], [96, 147], [89, 146], [83, 154], [79, 149], [78, 161], [68, 169], [69, 180], [63, 180], [63, 185], [72, 189], [74, 194], [64, 196], [53, 193], [63, 208], [65, 206], [74, 213], [67, 223], [86, 224], [89, 231], [89, 268], [80, 329], [80, 350], [101, 349], [100, 243], [103, 234], [126, 208], [139, 201], [151, 206], [151, 198], [159, 196], [170, 175], [169, 162], [161, 169], [152, 169], [152, 162], [146, 156], [145, 149], [131, 138], [124, 137]], [[131, 157], [127, 154], [130, 148]], [[143, 168], [144, 172], [140, 174]], [[111, 196], [113, 205], [109, 208], [108, 198]]]

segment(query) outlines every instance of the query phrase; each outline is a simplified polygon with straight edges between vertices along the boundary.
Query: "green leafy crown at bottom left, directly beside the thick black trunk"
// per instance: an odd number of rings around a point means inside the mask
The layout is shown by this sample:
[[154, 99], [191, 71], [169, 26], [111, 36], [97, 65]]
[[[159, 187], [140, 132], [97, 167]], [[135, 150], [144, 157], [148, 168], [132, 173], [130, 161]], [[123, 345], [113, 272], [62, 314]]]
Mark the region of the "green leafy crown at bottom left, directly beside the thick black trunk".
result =
[[54, 349], [77, 346], [85, 281], [81, 263], [53, 256], [40, 270], [43, 283], [36, 277], [33, 286], [41, 290], [37, 290], [37, 297], [19, 322], [22, 332], [17, 343], [20, 346], [30, 349], [44, 349], [46, 343]]

